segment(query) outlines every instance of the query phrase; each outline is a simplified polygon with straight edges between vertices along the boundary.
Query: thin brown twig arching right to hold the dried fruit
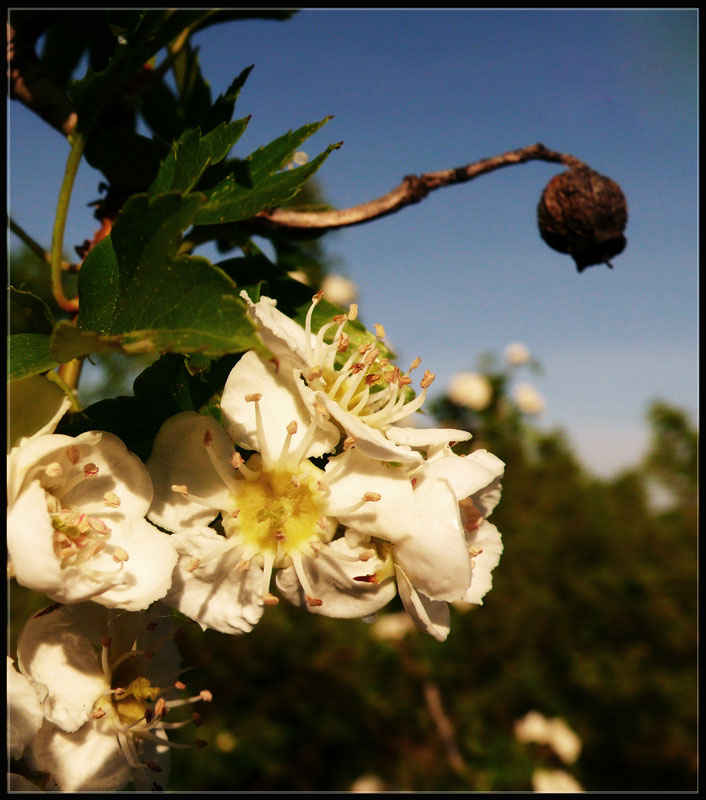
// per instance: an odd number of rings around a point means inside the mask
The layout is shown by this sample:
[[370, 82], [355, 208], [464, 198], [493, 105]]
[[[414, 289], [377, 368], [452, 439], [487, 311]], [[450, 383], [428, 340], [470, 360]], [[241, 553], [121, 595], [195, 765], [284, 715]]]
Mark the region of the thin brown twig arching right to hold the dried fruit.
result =
[[532, 144], [519, 150], [510, 150], [498, 156], [474, 161], [465, 167], [446, 169], [439, 172], [425, 172], [422, 175], [407, 175], [402, 183], [382, 197], [377, 197], [358, 206], [338, 211], [295, 211], [288, 208], [274, 208], [260, 211], [248, 222], [256, 228], [269, 231], [282, 230], [288, 233], [308, 231], [321, 233], [333, 228], [360, 225], [388, 214], [394, 214], [405, 206], [418, 203], [429, 192], [442, 186], [465, 183], [493, 172], [501, 167], [523, 164], [526, 161], [552, 161], [567, 167], [585, 167], [586, 164], [575, 156], [549, 150], [543, 144]]

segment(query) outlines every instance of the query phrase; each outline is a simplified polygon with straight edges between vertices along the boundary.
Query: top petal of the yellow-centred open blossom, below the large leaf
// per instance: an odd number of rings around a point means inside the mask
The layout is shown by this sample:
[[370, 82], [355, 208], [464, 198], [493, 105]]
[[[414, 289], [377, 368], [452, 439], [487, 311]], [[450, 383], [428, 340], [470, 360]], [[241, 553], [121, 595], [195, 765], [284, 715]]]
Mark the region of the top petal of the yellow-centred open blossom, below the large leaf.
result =
[[[225, 428], [233, 441], [260, 453], [266, 449], [277, 458], [287, 438], [287, 426], [296, 422], [297, 432], [290, 445], [290, 451], [295, 451], [307, 433], [312, 416], [294, 389], [291, 371], [284, 365], [278, 367], [254, 350], [245, 353], [231, 370], [221, 398]], [[266, 421], [264, 429], [257, 425], [256, 404], [245, 399], [250, 395], [261, 395], [258, 405]], [[263, 436], [265, 441], [262, 441]], [[320, 426], [303, 457], [317, 457], [332, 451], [339, 438], [339, 432], [332, 425]]]

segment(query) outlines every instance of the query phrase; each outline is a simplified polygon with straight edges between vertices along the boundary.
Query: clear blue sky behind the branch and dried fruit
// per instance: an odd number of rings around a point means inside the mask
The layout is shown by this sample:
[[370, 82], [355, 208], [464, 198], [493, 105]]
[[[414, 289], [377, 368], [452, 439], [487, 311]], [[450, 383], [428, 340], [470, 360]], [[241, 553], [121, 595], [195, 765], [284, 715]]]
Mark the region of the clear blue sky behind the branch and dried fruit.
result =
[[[561, 427], [598, 474], [634, 463], [649, 400], [697, 412], [697, 12], [312, 10], [195, 37], [214, 96], [249, 64], [236, 154], [333, 114], [304, 149], [343, 140], [318, 173], [346, 207], [404, 175], [542, 142], [618, 181], [628, 246], [614, 270], [540, 239], [536, 206], [559, 165], [532, 162], [434, 192], [326, 238], [403, 365], [419, 355], [441, 391], [480, 353], [522, 341], [541, 362], [543, 428]], [[58, 134], [11, 106], [10, 205], [49, 244]], [[90, 238], [83, 167], [67, 243]]]

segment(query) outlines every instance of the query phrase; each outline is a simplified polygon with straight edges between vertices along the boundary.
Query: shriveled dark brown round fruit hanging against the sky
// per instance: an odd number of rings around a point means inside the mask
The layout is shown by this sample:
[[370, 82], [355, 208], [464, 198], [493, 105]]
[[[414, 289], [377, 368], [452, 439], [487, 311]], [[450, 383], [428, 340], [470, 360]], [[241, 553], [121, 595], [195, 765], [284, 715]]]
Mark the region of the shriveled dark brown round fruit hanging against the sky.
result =
[[554, 250], [568, 253], [579, 272], [607, 264], [627, 244], [623, 230], [628, 208], [620, 186], [588, 167], [555, 175], [542, 192], [537, 208], [542, 239]]

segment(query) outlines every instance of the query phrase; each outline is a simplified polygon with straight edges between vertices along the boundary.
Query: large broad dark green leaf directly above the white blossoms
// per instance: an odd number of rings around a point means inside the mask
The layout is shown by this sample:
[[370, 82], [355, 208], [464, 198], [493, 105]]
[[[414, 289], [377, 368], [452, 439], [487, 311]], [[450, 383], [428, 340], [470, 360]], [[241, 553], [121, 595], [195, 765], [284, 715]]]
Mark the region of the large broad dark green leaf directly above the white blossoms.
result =
[[128, 200], [81, 268], [80, 329], [120, 335], [126, 352], [219, 356], [257, 345], [233, 281], [204, 258], [176, 256], [202, 202], [176, 192]]

